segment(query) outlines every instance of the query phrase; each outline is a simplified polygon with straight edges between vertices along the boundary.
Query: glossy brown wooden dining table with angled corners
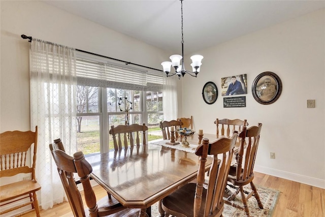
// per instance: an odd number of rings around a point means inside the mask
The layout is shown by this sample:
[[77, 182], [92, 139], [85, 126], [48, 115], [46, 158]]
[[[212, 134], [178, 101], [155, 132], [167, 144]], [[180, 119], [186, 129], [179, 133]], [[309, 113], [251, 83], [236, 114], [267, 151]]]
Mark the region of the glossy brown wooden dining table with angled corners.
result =
[[[86, 160], [93, 169], [92, 179], [123, 206], [140, 208], [141, 217], [146, 212], [150, 216], [151, 205], [195, 179], [199, 168], [196, 154], [150, 143], [87, 156]], [[211, 163], [209, 158], [206, 171]]]

